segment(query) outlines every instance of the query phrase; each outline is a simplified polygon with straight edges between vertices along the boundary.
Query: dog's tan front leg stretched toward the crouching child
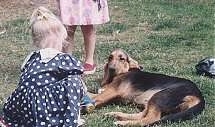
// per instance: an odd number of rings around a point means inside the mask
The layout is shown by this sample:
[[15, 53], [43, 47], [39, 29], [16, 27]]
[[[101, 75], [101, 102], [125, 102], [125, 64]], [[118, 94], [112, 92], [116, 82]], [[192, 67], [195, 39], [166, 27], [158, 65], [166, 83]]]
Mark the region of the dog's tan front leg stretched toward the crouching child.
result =
[[93, 99], [95, 100], [95, 106], [100, 107], [118, 96], [119, 92], [117, 92], [114, 87], [106, 87], [102, 93], [98, 94]]

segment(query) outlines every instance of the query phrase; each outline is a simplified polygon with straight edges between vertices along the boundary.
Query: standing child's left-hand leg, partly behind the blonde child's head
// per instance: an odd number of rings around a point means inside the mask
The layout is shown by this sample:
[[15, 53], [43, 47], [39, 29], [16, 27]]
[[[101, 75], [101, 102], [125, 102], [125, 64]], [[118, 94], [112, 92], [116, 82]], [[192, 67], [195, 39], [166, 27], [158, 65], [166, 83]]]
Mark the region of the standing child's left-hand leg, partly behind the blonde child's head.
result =
[[72, 52], [76, 27], [77, 26], [66, 26], [67, 33], [68, 33], [68, 37], [67, 37], [68, 43], [63, 45], [62, 52], [66, 52], [66, 53]]

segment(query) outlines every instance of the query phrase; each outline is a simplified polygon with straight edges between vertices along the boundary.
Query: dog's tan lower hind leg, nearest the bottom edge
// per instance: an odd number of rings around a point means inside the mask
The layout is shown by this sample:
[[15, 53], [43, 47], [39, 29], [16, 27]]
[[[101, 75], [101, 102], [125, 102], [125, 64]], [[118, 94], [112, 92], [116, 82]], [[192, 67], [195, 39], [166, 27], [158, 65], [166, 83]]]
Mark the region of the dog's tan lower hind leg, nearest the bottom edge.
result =
[[138, 120], [116, 121], [115, 124], [122, 126], [145, 126], [152, 124], [161, 118], [161, 112], [156, 106], [149, 106], [145, 117]]

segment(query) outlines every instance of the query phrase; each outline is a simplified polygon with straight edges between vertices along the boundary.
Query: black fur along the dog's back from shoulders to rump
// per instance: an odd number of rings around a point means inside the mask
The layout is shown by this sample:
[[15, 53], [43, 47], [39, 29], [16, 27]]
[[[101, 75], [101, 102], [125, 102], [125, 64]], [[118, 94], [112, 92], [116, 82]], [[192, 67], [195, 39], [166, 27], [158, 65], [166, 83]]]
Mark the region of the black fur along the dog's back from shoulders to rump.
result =
[[164, 74], [133, 70], [124, 74], [124, 79], [129, 80], [133, 88], [143, 91], [148, 89], [165, 89], [174, 87], [184, 87], [184, 89], [182, 89], [182, 91], [184, 91], [186, 90], [186, 87], [189, 87], [189, 90], [192, 89], [193, 92], [200, 92], [192, 81]]

